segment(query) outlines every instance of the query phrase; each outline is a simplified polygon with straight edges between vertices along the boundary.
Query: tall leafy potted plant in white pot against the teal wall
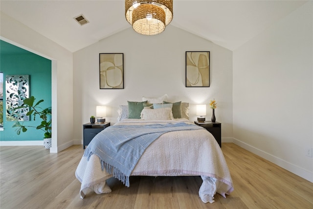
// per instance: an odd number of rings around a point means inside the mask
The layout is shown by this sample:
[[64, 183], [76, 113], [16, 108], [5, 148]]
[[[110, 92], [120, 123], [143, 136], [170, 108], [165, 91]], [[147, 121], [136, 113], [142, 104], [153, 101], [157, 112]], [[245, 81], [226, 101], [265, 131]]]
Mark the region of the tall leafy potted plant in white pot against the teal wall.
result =
[[29, 108], [29, 111], [26, 113], [26, 116], [34, 116], [34, 120], [36, 120], [36, 116], [40, 117], [41, 123], [38, 126], [28, 126], [28, 125], [23, 125], [23, 122], [20, 123], [20, 121], [16, 121], [12, 127], [18, 127], [16, 129], [16, 133], [18, 135], [21, 134], [22, 132], [26, 132], [27, 128], [26, 127], [33, 127], [36, 129], [40, 129], [45, 132], [44, 134], [44, 146], [46, 149], [49, 149], [51, 147], [51, 107], [48, 108], [41, 108], [38, 105], [42, 103], [44, 100], [38, 101], [34, 105], [35, 97], [31, 96], [30, 98], [25, 98], [23, 100], [23, 104], [20, 107], [17, 107], [15, 109], [20, 109], [20, 108]]

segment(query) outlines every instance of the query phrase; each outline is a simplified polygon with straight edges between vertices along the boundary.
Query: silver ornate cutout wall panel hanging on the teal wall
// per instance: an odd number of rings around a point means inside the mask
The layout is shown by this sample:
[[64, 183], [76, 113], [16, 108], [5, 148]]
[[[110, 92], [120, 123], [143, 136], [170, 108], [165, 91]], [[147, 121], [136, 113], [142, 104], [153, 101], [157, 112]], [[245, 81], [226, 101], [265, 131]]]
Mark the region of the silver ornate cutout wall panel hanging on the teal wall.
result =
[[29, 108], [21, 108], [23, 100], [29, 98], [29, 75], [6, 75], [5, 77], [5, 100], [6, 100], [6, 120], [7, 121], [28, 121], [26, 113]]

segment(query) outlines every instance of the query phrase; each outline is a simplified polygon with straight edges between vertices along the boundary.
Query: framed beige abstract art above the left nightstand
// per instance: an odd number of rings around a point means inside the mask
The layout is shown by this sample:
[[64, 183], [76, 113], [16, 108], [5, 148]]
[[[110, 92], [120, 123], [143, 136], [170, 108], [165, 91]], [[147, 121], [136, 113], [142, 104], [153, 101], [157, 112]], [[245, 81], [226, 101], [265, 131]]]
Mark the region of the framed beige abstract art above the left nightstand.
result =
[[100, 89], [124, 89], [124, 53], [99, 53]]

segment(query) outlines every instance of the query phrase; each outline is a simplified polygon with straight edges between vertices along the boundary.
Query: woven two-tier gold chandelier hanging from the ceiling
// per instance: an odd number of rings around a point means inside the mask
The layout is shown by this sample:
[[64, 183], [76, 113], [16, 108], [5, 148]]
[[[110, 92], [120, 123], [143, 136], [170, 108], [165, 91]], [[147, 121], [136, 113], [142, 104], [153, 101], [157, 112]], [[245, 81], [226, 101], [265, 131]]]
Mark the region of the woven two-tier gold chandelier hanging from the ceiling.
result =
[[159, 34], [173, 19], [173, 0], [125, 0], [125, 17], [137, 33]]

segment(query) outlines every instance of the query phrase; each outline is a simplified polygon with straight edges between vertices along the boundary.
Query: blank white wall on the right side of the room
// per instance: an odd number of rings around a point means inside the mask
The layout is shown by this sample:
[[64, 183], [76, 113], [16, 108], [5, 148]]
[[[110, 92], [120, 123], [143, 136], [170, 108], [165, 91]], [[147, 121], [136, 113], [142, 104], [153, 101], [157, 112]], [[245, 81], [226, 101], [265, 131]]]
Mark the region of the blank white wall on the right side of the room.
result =
[[313, 2], [233, 52], [235, 142], [313, 182]]

